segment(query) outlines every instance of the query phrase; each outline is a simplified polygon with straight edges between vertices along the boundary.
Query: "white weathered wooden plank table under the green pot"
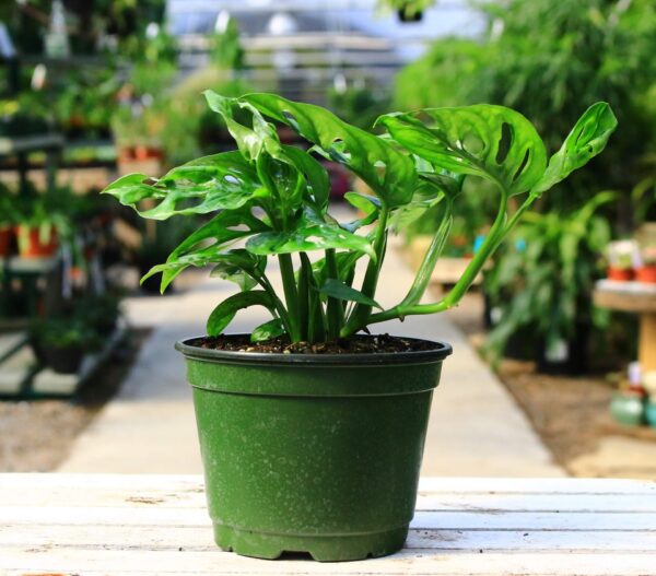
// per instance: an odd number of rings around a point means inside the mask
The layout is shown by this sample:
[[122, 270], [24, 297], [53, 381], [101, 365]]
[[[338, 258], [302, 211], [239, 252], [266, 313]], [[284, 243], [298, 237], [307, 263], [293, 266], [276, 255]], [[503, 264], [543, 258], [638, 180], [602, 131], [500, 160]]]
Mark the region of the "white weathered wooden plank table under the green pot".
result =
[[0, 474], [2, 575], [656, 574], [656, 483], [423, 479], [406, 548], [320, 564], [212, 542], [198, 477]]

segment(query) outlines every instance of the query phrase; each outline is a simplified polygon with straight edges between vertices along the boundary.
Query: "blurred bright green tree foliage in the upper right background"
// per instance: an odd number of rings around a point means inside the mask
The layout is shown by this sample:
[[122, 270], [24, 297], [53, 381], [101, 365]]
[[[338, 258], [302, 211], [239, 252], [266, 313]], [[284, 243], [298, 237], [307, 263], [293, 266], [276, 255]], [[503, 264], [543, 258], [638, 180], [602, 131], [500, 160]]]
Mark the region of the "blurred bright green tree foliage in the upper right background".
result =
[[[481, 38], [442, 38], [396, 82], [396, 105], [421, 108], [490, 102], [535, 122], [549, 146], [576, 120], [581, 102], [606, 101], [619, 130], [604, 161], [560, 184], [542, 203], [579, 207], [591, 193], [620, 193], [630, 227], [630, 191], [654, 175], [656, 4], [649, 0], [511, 0], [476, 4]], [[612, 214], [607, 207], [605, 211]]]

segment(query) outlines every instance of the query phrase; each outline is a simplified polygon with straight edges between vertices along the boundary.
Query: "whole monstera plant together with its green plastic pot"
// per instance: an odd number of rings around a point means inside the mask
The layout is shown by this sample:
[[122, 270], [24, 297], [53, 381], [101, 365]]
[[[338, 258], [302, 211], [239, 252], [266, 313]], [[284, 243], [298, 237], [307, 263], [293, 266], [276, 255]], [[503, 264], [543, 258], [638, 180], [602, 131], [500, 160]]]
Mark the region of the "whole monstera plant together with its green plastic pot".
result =
[[[450, 346], [371, 330], [455, 306], [534, 201], [604, 149], [614, 116], [607, 104], [590, 107], [548, 163], [532, 125], [499, 106], [386, 115], [378, 120], [386, 133], [377, 137], [272, 94], [206, 96], [238, 150], [160, 179], [128, 175], [105, 192], [144, 218], [213, 214], [149, 272], [162, 273], [162, 290], [189, 266], [212, 266], [212, 275], [241, 289], [214, 308], [208, 336], [176, 344], [194, 388], [216, 543], [259, 557], [393, 553], [413, 515], [431, 396]], [[247, 121], [235, 120], [236, 110], [247, 111]], [[312, 151], [281, 143], [272, 121]], [[313, 153], [374, 190], [375, 197], [345, 196], [363, 218], [339, 223], [329, 215], [328, 175]], [[421, 303], [453, 200], [469, 177], [495, 183], [496, 219], [453, 290]], [[509, 213], [518, 195], [524, 202]], [[156, 204], [140, 210], [144, 199]], [[376, 285], [393, 222], [435, 201], [446, 207], [444, 220], [412, 286], [380, 309]], [[365, 225], [372, 227], [363, 233]], [[237, 240], [244, 247], [235, 248]], [[269, 278], [273, 258], [281, 291]], [[365, 271], [355, 282], [359, 260]], [[265, 307], [271, 319], [250, 334], [225, 334], [250, 306]]]

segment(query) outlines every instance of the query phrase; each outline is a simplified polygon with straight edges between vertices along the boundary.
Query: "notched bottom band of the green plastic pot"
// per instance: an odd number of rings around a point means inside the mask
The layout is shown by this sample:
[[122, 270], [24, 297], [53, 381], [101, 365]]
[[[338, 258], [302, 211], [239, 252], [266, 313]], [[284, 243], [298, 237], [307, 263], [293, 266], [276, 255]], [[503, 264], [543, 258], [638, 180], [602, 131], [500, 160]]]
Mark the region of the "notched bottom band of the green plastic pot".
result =
[[386, 556], [403, 548], [408, 527], [347, 536], [298, 536], [241, 530], [214, 525], [214, 541], [221, 550], [242, 556], [274, 560], [284, 552], [307, 553], [319, 562], [345, 562]]

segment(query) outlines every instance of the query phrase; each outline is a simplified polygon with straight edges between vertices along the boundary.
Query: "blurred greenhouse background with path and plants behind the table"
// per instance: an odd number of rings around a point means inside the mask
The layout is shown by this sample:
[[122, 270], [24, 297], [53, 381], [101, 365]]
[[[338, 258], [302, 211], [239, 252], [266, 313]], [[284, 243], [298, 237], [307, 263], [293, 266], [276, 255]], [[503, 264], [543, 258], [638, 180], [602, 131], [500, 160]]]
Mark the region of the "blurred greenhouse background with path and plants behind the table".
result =
[[[172, 343], [230, 287], [202, 268], [164, 295], [140, 283], [204, 216], [147, 222], [101, 191], [234, 150], [210, 89], [318, 104], [376, 134], [396, 110], [504, 105], [549, 154], [608, 102], [605, 152], [540, 198], [460, 306], [398, 330], [455, 350], [423, 473], [656, 479], [655, 51], [649, 0], [3, 2], [0, 470], [199, 471]], [[348, 220], [344, 193], [371, 190], [324, 165]], [[433, 295], [490, 233], [493, 187], [466, 186], [457, 209]], [[398, 226], [382, 303], [402, 297], [438, 218]]]

